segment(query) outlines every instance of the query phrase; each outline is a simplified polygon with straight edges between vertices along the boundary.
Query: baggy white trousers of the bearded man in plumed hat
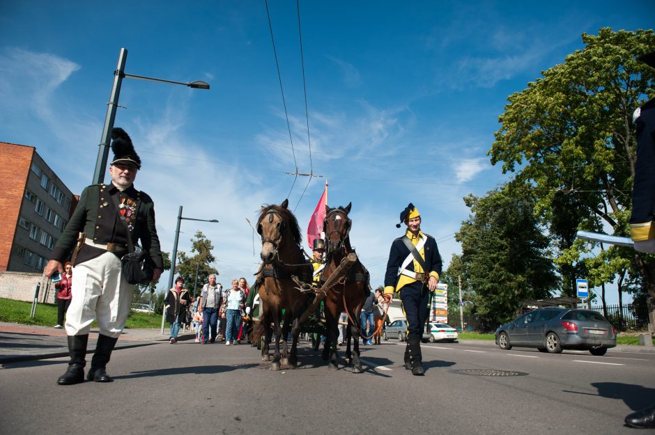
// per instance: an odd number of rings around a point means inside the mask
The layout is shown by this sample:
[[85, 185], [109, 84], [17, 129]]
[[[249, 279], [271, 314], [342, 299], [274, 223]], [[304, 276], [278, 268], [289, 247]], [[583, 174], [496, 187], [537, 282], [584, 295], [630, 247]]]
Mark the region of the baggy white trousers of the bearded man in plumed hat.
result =
[[132, 285], [121, 274], [121, 260], [106, 252], [72, 269], [72, 300], [66, 312], [66, 333], [86, 335], [98, 320], [102, 335], [118, 338], [132, 303]]

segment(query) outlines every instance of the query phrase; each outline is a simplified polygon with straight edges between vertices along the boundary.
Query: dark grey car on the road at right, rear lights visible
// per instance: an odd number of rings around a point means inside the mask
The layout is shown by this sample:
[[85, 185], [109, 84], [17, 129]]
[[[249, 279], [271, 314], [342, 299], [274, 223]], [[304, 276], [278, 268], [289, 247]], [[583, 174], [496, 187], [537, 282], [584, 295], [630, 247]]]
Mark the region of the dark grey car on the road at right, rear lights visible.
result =
[[603, 315], [592, 310], [560, 307], [537, 308], [495, 331], [500, 349], [536, 347], [559, 354], [562, 349], [588, 350], [604, 355], [617, 345], [616, 331]]

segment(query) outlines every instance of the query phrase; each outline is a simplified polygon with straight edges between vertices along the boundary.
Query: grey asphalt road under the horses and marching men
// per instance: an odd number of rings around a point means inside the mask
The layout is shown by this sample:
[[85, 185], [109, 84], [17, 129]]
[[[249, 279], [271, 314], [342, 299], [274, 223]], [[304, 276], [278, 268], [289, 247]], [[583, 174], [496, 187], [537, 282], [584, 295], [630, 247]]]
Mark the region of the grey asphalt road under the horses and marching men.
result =
[[115, 351], [113, 383], [56, 385], [66, 358], [9, 363], [0, 432], [614, 435], [635, 433], [624, 416], [655, 401], [655, 354], [435, 343], [413, 377], [403, 345], [362, 347], [363, 374], [328, 370], [308, 345], [300, 367], [272, 372], [248, 345], [192, 341]]

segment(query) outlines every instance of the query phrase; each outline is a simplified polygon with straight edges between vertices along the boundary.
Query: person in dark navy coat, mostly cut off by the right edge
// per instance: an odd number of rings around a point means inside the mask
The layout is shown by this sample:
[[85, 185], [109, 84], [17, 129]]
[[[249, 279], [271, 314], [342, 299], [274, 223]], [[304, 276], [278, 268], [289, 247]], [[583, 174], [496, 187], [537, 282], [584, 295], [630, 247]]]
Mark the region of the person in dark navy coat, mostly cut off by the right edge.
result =
[[[638, 58], [655, 68], [655, 52]], [[635, 250], [655, 253], [655, 98], [635, 111], [637, 127], [637, 159], [635, 183], [632, 189], [630, 235]], [[655, 304], [655, 294], [649, 294], [649, 305]], [[655, 428], [655, 402], [625, 419], [626, 425], [640, 429]]]

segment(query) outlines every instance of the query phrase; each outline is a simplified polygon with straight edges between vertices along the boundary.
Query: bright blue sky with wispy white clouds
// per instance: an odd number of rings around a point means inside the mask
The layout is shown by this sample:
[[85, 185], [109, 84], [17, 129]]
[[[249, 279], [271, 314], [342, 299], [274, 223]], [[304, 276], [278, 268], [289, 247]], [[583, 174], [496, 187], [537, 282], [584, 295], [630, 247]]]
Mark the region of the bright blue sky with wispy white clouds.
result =
[[0, 141], [35, 146], [82, 191], [125, 47], [125, 72], [211, 85], [123, 80], [115, 125], [144, 162], [136, 186], [155, 200], [164, 251], [183, 205], [220, 223], [183, 221], [178, 249], [202, 230], [219, 281], [252, 282], [260, 245], [253, 254], [246, 219], [288, 197], [305, 230], [327, 179], [331, 206], [353, 203], [351, 240], [377, 286], [410, 201], [445, 267], [460, 252], [462, 198], [507, 180], [486, 152], [511, 93], [583, 48], [582, 33], [650, 29], [655, 16], [652, 1], [526, 3], [301, 1], [307, 118], [295, 1], [271, 0], [295, 161], [319, 175], [303, 195], [309, 179], [286, 174], [295, 163], [263, 1], [2, 1]]

